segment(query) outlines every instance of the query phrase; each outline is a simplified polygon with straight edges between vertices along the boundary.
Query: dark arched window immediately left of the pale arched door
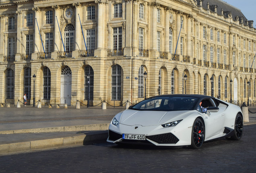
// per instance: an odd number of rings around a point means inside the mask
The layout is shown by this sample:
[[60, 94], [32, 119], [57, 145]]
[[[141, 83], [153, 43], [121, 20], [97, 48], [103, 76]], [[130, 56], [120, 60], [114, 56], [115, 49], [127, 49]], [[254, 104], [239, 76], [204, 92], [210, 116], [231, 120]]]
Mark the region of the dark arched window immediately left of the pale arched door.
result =
[[43, 99], [51, 99], [51, 71], [48, 67], [43, 68]]

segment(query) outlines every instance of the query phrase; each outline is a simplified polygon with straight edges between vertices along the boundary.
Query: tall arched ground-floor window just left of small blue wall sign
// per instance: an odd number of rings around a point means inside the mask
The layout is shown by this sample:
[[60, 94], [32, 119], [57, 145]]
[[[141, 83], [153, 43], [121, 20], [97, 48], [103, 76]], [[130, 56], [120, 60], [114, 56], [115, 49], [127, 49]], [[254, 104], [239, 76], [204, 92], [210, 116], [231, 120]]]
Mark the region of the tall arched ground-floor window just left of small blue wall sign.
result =
[[112, 100], [121, 100], [121, 70], [118, 64], [112, 66]]

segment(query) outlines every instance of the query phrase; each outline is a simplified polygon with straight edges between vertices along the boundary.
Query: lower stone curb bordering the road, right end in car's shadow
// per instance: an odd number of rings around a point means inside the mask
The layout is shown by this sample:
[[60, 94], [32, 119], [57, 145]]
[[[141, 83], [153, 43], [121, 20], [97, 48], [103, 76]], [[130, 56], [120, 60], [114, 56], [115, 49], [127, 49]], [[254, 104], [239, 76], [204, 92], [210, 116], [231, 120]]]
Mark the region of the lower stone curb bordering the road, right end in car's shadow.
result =
[[93, 141], [102, 141], [104, 139], [107, 140], [107, 137], [107, 131], [97, 131], [88, 133], [87, 135], [2, 144], [0, 145], [0, 155], [37, 151], [43, 149], [83, 146], [92, 143]]

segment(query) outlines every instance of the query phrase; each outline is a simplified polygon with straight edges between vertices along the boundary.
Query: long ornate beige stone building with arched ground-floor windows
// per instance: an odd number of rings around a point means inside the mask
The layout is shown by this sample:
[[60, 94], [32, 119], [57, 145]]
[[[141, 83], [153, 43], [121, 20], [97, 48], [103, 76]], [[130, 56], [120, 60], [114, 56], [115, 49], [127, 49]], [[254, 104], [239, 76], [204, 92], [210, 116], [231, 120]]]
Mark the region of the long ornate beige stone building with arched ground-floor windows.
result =
[[256, 98], [256, 29], [222, 0], [1, 0], [0, 40], [0, 102]]

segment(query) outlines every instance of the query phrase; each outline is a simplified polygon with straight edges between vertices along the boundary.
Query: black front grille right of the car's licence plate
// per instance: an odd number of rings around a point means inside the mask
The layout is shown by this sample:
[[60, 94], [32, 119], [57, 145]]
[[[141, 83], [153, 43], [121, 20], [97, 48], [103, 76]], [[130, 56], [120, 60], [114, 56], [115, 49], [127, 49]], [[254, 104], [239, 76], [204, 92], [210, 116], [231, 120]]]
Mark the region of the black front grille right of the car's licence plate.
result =
[[172, 133], [164, 133], [160, 135], [152, 135], [152, 136], [147, 136], [147, 139], [150, 139], [151, 141], [154, 141], [156, 143], [177, 143], [179, 139], [175, 137]]

